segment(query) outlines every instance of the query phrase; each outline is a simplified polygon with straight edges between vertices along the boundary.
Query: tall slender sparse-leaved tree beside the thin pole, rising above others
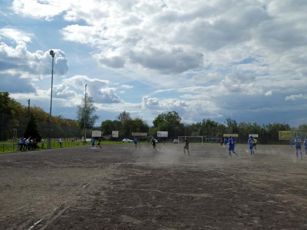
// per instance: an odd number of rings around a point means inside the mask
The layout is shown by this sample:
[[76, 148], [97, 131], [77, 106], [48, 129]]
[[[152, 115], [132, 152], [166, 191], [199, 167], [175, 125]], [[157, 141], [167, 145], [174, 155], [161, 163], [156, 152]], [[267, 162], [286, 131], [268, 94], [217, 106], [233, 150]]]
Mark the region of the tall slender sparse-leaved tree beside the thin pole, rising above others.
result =
[[[85, 99], [85, 98], [84, 98]], [[81, 105], [77, 108], [77, 120], [80, 128], [93, 128], [95, 122], [99, 118], [95, 113], [97, 107], [94, 106], [93, 97], [86, 93], [86, 101], [82, 99]], [[85, 122], [84, 122], [85, 121]]]

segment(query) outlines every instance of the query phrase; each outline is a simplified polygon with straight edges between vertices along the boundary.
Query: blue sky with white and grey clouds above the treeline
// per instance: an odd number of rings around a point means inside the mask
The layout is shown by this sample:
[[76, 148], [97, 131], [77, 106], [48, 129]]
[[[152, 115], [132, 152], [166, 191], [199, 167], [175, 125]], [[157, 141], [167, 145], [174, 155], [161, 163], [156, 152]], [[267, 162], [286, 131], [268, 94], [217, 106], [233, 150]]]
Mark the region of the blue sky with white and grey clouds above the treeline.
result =
[[307, 123], [304, 0], [0, 1], [0, 91], [76, 119], [126, 110], [151, 124], [177, 111], [211, 119]]

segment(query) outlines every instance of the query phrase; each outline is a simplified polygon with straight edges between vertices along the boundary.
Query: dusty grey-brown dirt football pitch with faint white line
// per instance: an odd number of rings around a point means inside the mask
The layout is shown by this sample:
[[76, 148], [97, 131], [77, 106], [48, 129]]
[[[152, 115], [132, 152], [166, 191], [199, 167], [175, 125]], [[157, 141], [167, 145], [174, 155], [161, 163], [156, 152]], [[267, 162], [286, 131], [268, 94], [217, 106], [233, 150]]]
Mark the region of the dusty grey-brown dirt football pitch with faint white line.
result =
[[0, 155], [1, 229], [307, 229], [288, 146], [102, 146]]

